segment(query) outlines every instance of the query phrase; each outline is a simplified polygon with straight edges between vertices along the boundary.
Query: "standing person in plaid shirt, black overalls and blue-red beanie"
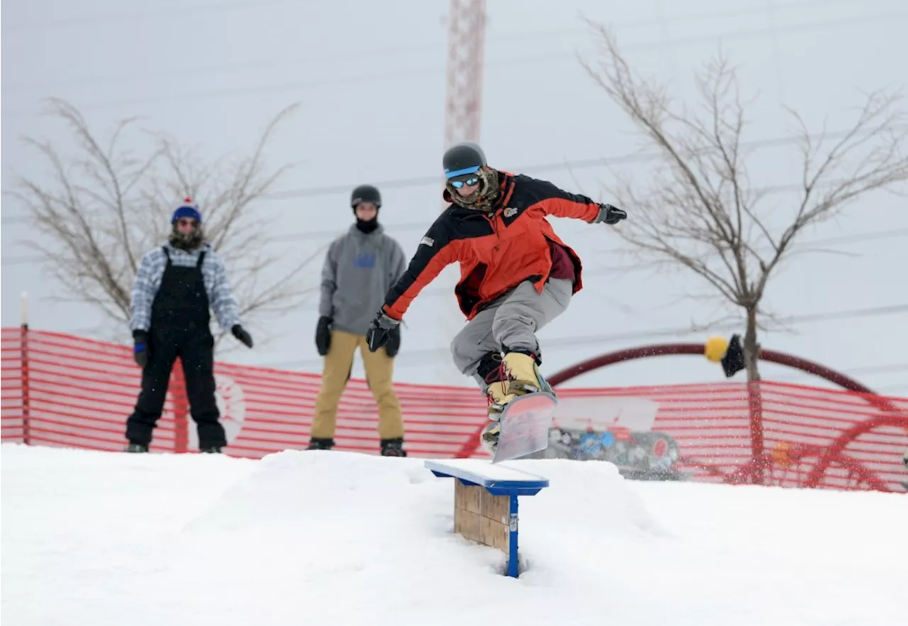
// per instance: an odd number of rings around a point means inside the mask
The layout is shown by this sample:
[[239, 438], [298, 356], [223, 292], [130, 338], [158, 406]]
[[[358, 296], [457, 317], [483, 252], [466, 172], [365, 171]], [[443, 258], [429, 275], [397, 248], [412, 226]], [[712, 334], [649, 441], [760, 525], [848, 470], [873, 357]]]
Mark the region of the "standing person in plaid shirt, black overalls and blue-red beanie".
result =
[[180, 357], [199, 448], [220, 453], [227, 440], [214, 396], [210, 310], [221, 328], [246, 347], [252, 347], [252, 337], [240, 324], [223, 259], [204, 240], [198, 206], [187, 198], [173, 211], [171, 225], [167, 243], [145, 253], [133, 282], [130, 329], [142, 391], [126, 420], [126, 451], [148, 452], [173, 363]]

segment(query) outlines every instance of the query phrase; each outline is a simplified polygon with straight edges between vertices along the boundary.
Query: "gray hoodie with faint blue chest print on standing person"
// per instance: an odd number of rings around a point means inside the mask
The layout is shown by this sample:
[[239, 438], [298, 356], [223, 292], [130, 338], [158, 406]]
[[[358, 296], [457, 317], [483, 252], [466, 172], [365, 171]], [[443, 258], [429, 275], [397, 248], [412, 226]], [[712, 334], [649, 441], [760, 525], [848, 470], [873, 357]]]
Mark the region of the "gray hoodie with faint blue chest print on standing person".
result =
[[366, 234], [353, 224], [325, 255], [319, 315], [332, 318], [335, 330], [365, 335], [388, 289], [406, 269], [403, 249], [380, 225]]

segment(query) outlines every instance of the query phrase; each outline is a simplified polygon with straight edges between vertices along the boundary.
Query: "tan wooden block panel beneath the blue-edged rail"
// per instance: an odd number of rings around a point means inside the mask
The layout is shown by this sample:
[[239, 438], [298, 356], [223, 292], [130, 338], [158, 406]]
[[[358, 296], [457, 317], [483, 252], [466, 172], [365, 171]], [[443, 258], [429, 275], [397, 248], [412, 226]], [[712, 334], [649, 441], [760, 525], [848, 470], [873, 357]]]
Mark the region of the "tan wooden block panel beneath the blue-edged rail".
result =
[[469, 541], [508, 553], [510, 498], [492, 495], [477, 484], [455, 482], [454, 532]]

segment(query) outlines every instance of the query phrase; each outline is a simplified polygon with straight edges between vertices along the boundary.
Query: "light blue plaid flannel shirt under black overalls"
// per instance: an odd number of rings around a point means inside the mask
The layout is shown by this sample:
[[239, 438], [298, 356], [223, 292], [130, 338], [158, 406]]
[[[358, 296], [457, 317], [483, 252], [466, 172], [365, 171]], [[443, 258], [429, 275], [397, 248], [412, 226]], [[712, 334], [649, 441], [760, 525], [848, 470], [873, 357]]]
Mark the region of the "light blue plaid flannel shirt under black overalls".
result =
[[[173, 265], [182, 268], [194, 267], [199, 262], [199, 254], [205, 252], [202, 261], [202, 277], [205, 282], [205, 291], [208, 301], [218, 318], [218, 324], [225, 331], [229, 331], [235, 324], [240, 323], [240, 308], [227, 280], [227, 270], [224, 268], [223, 259], [206, 243], [201, 249], [187, 252], [165, 244], [170, 252]], [[133, 299], [130, 305], [132, 319], [130, 330], [148, 330], [152, 322], [152, 303], [154, 296], [161, 287], [164, 269], [167, 267], [167, 256], [161, 246], [145, 253], [139, 270], [133, 282]]]

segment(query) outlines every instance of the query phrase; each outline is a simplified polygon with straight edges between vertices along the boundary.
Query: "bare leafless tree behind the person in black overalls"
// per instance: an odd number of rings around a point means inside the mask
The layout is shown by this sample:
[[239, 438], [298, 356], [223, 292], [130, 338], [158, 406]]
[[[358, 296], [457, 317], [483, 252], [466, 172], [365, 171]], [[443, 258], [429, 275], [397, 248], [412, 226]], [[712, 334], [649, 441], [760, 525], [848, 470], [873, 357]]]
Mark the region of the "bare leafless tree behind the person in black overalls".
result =
[[25, 138], [50, 166], [53, 182], [20, 176], [15, 195], [46, 236], [44, 242], [27, 243], [44, 254], [69, 296], [59, 299], [93, 305], [118, 322], [121, 332], [115, 336], [123, 337], [143, 254], [166, 238], [170, 215], [186, 197], [202, 209], [206, 239], [227, 264], [244, 324], [254, 327], [257, 319], [298, 307], [315, 290], [303, 280], [302, 270], [321, 249], [287, 263], [271, 245], [268, 220], [257, 220], [254, 210], [254, 203], [290, 167], [266, 171], [264, 152], [296, 105], [271, 119], [250, 156], [204, 164], [160, 133], [153, 133], [147, 153], [139, 153], [133, 146], [147, 141], [123, 141], [135, 118], [117, 122], [104, 141], [72, 104], [49, 102], [52, 114], [72, 132], [75, 156], [64, 157], [52, 142]]

